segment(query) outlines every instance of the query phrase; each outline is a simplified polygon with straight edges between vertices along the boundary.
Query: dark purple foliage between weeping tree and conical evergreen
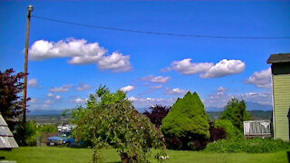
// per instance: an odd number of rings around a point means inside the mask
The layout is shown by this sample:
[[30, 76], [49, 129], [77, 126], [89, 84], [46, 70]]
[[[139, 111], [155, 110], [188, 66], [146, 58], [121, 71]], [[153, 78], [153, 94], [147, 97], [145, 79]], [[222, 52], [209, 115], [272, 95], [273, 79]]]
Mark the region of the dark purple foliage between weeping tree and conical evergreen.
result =
[[161, 121], [167, 116], [171, 107], [155, 105], [155, 106], [151, 106], [149, 109], [150, 109], [150, 112], [148, 110], [145, 110], [143, 115], [148, 117], [150, 121], [153, 124], [155, 124], [157, 128], [160, 128]]

